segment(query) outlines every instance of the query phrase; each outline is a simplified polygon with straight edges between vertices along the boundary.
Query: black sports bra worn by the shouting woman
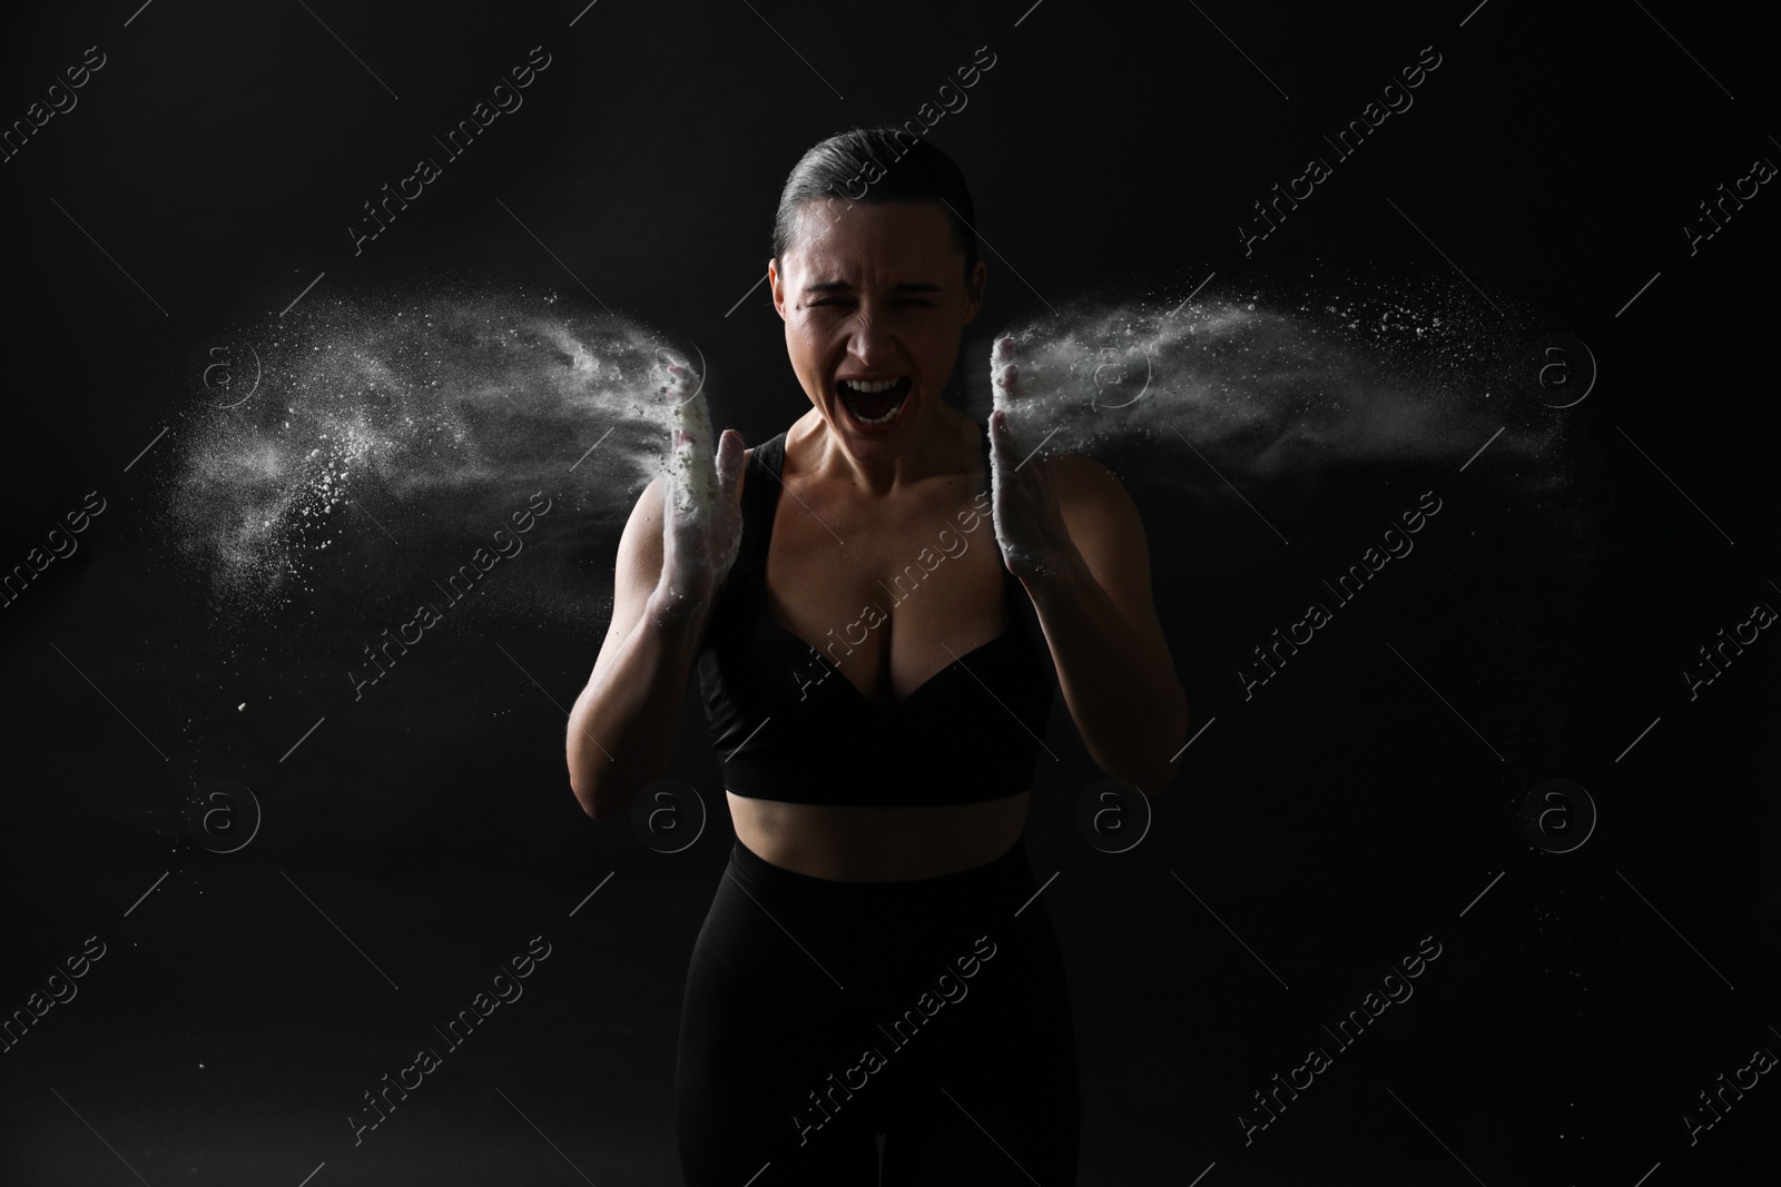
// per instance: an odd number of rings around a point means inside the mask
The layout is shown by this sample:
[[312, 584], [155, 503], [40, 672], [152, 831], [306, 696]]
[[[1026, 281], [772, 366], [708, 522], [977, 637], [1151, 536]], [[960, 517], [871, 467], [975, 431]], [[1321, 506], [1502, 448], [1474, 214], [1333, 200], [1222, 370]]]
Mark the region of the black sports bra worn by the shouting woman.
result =
[[[983, 450], [988, 473], [988, 434]], [[698, 653], [723, 785], [737, 795], [798, 804], [964, 804], [1028, 790], [1056, 698], [1056, 667], [1044, 634], [1015, 612], [1026, 602], [1019, 578], [997, 555], [1006, 605], [1001, 634], [889, 712], [878, 710], [830, 655], [769, 612], [766, 561], [784, 463], [785, 432], [748, 461], [741, 545]], [[905, 600], [919, 578], [965, 548], [997, 546], [988, 491], [978, 495], [976, 509], [958, 513], [956, 525], [937, 527], [935, 537], [942, 552], [924, 548], [887, 594]], [[890, 596], [883, 602], [896, 605]], [[846, 655], [850, 632], [858, 646], [860, 632], [887, 618], [889, 607], [874, 600], [860, 621], [830, 630], [823, 646]]]

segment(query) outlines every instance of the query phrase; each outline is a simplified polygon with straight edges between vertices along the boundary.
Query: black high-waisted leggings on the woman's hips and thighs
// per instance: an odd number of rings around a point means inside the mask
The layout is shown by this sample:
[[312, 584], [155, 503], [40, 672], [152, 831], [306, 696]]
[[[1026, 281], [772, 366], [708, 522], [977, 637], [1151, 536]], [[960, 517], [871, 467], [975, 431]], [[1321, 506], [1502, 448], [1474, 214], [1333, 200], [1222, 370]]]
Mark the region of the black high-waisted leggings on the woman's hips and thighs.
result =
[[[1026, 845], [839, 883], [741, 842], [693, 945], [675, 1134], [687, 1187], [1076, 1183], [1069, 986]], [[1019, 911], [1019, 915], [1017, 915]]]

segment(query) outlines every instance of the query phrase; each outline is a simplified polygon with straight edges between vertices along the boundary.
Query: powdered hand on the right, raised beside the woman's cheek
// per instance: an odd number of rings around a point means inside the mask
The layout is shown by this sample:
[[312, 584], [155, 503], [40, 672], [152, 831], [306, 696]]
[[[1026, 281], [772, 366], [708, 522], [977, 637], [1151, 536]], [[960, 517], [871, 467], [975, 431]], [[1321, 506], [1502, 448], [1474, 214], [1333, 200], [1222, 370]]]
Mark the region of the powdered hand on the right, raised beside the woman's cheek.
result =
[[1008, 425], [1004, 409], [1021, 399], [1013, 338], [996, 342], [990, 354], [990, 383], [996, 384], [996, 411], [990, 413], [996, 543], [1008, 571], [1026, 582], [1063, 569], [1076, 553], [1076, 543], [1070, 541], [1070, 530], [1063, 523], [1053, 461], [1040, 452], [1028, 457]]

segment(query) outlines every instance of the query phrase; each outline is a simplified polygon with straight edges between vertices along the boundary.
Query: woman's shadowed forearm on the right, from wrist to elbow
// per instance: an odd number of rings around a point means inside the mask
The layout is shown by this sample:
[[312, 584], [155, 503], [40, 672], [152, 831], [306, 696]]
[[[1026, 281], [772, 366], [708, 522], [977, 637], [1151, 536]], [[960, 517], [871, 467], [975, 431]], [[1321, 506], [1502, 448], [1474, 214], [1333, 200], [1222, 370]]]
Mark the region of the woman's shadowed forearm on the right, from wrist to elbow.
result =
[[1115, 779], [1156, 795], [1175, 774], [1188, 728], [1188, 698], [1167, 653], [1145, 646], [1079, 552], [1022, 584], [1090, 756]]

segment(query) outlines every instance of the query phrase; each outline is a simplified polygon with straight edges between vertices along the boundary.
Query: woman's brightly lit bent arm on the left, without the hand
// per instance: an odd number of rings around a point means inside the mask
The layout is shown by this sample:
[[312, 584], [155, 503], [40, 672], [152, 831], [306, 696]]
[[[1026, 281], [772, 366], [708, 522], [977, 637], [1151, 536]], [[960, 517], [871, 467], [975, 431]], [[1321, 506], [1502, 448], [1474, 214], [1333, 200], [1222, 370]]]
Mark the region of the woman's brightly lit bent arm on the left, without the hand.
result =
[[[595, 820], [629, 812], [661, 778], [711, 605], [668, 594], [663, 575], [664, 482], [654, 479], [618, 541], [613, 621], [568, 715], [568, 781]], [[711, 598], [716, 602], [716, 596]]]

